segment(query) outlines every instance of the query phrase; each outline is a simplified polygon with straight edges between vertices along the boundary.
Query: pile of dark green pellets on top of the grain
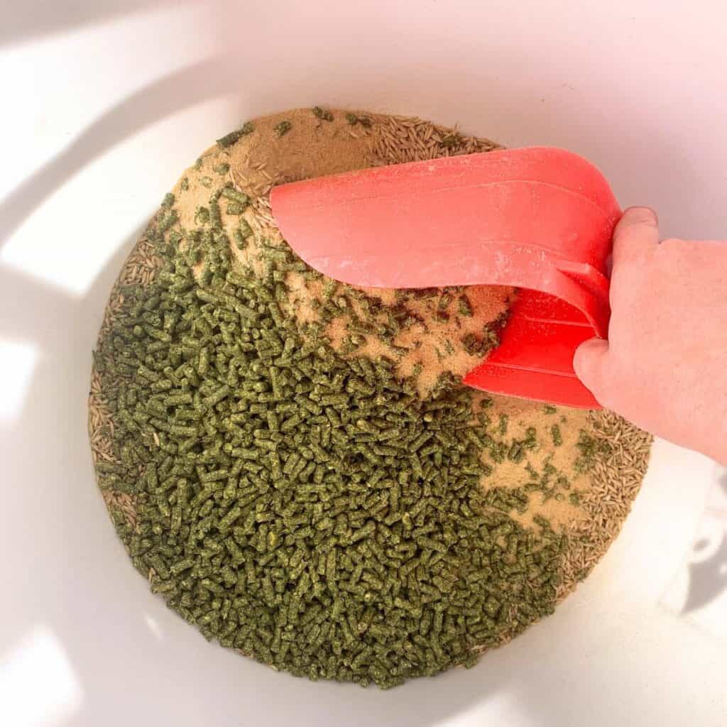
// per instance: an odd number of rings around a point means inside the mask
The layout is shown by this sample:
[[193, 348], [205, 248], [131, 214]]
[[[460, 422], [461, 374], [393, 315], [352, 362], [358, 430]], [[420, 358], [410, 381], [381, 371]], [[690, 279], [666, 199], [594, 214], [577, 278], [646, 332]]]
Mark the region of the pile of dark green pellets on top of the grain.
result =
[[167, 196], [146, 233], [164, 265], [121, 288], [95, 352], [116, 457], [97, 478], [134, 496], [134, 525], [111, 515], [153, 592], [278, 670], [385, 688], [550, 614], [565, 539], [511, 517], [523, 489], [483, 486], [510, 448], [487, 402], [334, 350], [289, 312], [289, 273], [317, 273], [285, 245], [245, 267], [249, 229], [211, 207], [182, 230]]

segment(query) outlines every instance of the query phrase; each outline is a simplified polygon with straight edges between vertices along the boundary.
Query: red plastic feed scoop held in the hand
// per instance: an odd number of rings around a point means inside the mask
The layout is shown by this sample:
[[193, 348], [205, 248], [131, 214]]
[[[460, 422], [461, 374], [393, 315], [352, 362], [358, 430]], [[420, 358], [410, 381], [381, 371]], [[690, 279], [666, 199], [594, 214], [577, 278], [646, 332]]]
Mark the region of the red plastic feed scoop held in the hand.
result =
[[584, 158], [537, 147], [453, 156], [293, 182], [270, 200], [297, 254], [345, 283], [518, 287], [499, 347], [465, 383], [598, 408], [573, 354], [606, 338], [621, 210]]

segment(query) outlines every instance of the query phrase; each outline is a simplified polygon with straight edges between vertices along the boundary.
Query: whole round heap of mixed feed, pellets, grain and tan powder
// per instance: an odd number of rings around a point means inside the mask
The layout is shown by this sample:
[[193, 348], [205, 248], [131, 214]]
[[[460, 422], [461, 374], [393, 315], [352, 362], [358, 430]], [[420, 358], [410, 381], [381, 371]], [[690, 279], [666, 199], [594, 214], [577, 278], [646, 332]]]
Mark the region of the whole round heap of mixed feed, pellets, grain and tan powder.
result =
[[616, 536], [646, 434], [460, 383], [513, 290], [338, 284], [270, 214], [278, 182], [493, 148], [361, 111], [259, 119], [126, 260], [94, 354], [97, 480], [134, 566], [207, 639], [395, 686], [552, 613]]

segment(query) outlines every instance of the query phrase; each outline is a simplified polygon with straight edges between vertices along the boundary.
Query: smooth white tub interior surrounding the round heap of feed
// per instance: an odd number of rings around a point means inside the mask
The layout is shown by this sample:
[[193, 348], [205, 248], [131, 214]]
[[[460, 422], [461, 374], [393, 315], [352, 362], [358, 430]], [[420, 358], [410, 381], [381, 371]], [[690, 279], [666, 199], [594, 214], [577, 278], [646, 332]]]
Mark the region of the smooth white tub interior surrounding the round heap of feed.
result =
[[0, 724], [725, 724], [727, 480], [706, 459], [657, 443], [593, 577], [511, 646], [364, 691], [211, 646], [150, 595], [95, 489], [85, 401], [140, 227], [260, 113], [355, 105], [562, 145], [665, 236], [727, 237], [726, 21], [719, 1], [6, 0]]

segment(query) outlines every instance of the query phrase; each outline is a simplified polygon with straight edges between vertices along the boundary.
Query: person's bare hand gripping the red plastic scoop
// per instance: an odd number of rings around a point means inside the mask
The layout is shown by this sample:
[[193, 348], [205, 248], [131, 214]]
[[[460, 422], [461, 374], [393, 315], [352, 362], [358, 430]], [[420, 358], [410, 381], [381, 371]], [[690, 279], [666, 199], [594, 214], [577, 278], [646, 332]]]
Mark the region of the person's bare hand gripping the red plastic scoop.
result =
[[573, 365], [608, 409], [727, 464], [727, 241], [659, 242], [656, 214], [616, 225], [608, 341]]

